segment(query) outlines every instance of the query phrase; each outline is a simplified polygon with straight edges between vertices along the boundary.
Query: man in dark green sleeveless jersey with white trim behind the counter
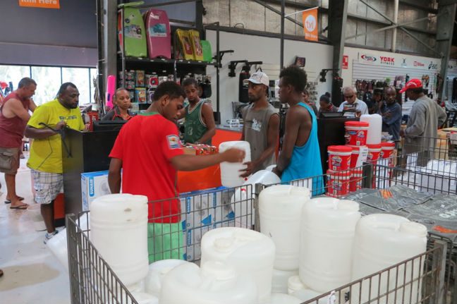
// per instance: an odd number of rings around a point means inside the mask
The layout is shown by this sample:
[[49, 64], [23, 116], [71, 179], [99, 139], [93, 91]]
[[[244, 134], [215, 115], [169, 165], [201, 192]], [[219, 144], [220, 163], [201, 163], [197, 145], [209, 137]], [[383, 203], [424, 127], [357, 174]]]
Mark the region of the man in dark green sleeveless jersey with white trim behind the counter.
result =
[[216, 134], [212, 107], [198, 97], [198, 83], [194, 78], [184, 80], [183, 89], [189, 101], [189, 105], [181, 111], [185, 117], [184, 141], [196, 145], [211, 145], [211, 139]]

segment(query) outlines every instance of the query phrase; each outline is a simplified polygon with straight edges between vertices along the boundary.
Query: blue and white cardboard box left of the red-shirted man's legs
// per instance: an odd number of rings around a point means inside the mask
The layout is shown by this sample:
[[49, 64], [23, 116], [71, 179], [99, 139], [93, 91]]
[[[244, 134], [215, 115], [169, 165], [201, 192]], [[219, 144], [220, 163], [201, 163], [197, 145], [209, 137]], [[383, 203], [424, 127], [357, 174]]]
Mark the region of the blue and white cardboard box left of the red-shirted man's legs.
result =
[[108, 171], [86, 172], [81, 174], [81, 196], [83, 211], [89, 210], [90, 203], [95, 198], [110, 194]]

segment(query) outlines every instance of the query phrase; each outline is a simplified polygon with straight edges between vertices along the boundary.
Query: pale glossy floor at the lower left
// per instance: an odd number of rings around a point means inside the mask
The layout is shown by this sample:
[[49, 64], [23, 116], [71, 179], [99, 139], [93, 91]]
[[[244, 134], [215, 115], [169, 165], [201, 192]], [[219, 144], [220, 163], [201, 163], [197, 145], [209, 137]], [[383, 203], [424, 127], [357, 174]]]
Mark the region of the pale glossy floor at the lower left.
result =
[[41, 226], [35, 222], [39, 206], [32, 199], [30, 169], [25, 163], [21, 159], [16, 190], [31, 205], [30, 210], [12, 210], [4, 204], [6, 186], [0, 174], [0, 269], [4, 271], [0, 303], [70, 303], [68, 273], [43, 244], [44, 231], [35, 231]]

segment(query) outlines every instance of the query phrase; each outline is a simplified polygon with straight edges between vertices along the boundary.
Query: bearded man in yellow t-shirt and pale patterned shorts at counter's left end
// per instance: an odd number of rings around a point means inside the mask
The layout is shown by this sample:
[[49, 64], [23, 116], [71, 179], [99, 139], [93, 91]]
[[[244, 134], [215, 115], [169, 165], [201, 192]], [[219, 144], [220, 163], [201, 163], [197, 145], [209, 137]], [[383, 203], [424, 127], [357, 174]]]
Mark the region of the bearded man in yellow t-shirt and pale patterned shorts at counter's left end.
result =
[[63, 83], [57, 98], [37, 107], [25, 128], [25, 136], [34, 139], [27, 165], [32, 169], [35, 202], [41, 204], [47, 229], [44, 243], [57, 233], [54, 227], [54, 200], [63, 188], [62, 140], [59, 131], [64, 127], [75, 130], [85, 128], [78, 102], [78, 88], [73, 83]]

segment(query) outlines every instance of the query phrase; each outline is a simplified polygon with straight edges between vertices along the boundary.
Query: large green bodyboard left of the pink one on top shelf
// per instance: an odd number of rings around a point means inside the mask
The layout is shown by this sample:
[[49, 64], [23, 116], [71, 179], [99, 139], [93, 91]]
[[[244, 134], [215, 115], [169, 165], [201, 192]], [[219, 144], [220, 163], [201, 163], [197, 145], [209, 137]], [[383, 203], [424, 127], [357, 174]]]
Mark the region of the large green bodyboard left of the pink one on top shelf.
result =
[[[118, 13], [118, 39], [125, 56], [147, 56], [145, 23], [138, 8], [123, 8], [123, 18]], [[123, 27], [123, 32], [122, 32]], [[125, 45], [123, 45], [123, 42]]]

